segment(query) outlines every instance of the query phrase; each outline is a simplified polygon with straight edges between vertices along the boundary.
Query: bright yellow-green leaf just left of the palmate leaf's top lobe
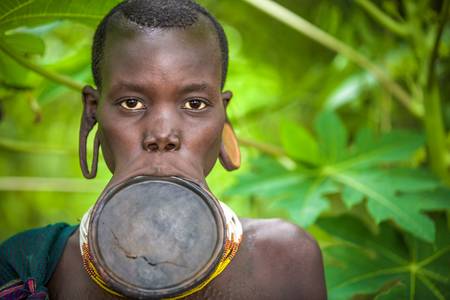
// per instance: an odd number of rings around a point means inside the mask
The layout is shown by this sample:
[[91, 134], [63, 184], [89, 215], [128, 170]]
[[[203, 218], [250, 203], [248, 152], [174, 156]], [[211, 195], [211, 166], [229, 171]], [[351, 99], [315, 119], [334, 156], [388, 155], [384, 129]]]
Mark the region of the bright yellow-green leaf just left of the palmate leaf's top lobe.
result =
[[319, 147], [317, 142], [302, 126], [294, 122], [282, 122], [281, 142], [291, 158], [311, 164], [318, 163]]

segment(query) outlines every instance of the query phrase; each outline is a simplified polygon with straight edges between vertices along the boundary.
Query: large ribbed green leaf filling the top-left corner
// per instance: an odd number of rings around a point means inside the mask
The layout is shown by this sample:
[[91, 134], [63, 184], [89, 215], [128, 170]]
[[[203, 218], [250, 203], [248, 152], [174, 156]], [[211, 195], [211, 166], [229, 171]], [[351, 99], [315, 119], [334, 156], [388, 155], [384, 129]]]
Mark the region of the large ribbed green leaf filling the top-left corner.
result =
[[119, 0], [2, 0], [0, 32], [20, 26], [35, 26], [65, 19], [97, 24]]

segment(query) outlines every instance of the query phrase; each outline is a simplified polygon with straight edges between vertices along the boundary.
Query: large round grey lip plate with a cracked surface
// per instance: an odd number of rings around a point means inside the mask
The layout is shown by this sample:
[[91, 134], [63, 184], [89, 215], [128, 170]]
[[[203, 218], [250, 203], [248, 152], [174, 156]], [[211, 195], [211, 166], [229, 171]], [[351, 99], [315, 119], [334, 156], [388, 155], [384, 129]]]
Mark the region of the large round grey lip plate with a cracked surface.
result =
[[203, 282], [225, 246], [219, 202], [178, 177], [134, 177], [105, 191], [88, 231], [92, 263], [114, 291], [135, 299], [180, 295]]

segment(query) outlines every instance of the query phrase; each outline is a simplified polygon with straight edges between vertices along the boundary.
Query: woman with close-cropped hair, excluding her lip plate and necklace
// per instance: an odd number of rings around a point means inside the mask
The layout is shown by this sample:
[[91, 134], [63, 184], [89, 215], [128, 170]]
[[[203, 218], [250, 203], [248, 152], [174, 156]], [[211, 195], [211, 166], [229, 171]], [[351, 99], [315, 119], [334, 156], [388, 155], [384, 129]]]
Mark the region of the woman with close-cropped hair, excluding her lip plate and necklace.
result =
[[[239, 167], [222, 92], [228, 46], [220, 24], [190, 1], [127, 1], [96, 31], [93, 75], [83, 89], [80, 159], [95, 176], [101, 148], [113, 176], [107, 189], [137, 175], [179, 176], [207, 188], [217, 158]], [[89, 171], [86, 140], [98, 124]], [[231, 263], [186, 299], [325, 299], [316, 242], [281, 220], [240, 220]], [[0, 248], [0, 298], [115, 299], [88, 274], [78, 226], [57, 224], [14, 236]], [[28, 298], [27, 298], [28, 297]]]

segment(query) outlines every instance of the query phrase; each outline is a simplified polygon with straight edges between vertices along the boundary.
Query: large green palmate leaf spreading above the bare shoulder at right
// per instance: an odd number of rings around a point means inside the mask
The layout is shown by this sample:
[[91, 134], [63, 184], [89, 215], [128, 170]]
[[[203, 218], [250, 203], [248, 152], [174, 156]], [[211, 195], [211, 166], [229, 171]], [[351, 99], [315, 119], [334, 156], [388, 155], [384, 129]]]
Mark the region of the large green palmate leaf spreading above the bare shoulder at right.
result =
[[[286, 209], [301, 226], [313, 224], [328, 209], [329, 194], [340, 193], [348, 208], [367, 200], [375, 222], [394, 220], [416, 237], [434, 240], [435, 227], [425, 211], [450, 208], [450, 192], [436, 192], [439, 183], [430, 173], [402, 166], [423, 145], [422, 135], [393, 131], [377, 137], [363, 129], [347, 146], [347, 131], [332, 112], [321, 114], [315, 122], [318, 142], [311, 142], [309, 134], [305, 139], [299, 126], [289, 126], [284, 128], [296, 129], [284, 130], [283, 145], [298, 162], [298, 169], [284, 169], [274, 160], [269, 163], [268, 158], [264, 164], [256, 161], [256, 170], [242, 177], [231, 191], [267, 199]], [[305, 154], [314, 148], [302, 147], [307, 143], [319, 145], [319, 166], [302, 167], [307, 161]], [[302, 153], [296, 155], [295, 151]]]

